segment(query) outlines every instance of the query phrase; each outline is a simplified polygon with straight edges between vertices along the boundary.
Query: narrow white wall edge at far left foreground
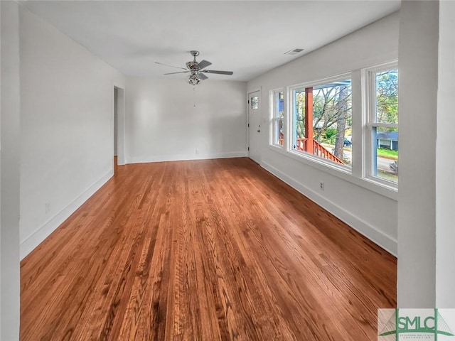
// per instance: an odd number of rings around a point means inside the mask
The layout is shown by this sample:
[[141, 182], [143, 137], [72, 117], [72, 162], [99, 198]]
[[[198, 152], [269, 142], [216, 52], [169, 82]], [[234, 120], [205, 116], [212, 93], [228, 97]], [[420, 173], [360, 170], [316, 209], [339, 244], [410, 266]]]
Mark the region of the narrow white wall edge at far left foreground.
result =
[[19, 14], [1, 8], [0, 340], [19, 340]]

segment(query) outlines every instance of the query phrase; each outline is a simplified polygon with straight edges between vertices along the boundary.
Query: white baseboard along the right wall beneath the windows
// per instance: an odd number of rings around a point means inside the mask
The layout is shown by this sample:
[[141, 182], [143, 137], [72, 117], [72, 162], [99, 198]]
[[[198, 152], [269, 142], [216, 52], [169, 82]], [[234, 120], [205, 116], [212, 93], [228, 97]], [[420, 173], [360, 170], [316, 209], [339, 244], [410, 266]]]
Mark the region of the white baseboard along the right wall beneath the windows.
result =
[[363, 234], [375, 244], [378, 244], [380, 247], [382, 247], [382, 249], [385, 249], [386, 251], [390, 252], [390, 254], [397, 256], [398, 244], [397, 241], [392, 237], [388, 236], [384, 232], [381, 232], [371, 224], [368, 224], [368, 222], [365, 222], [359, 217], [356, 217], [350, 212], [347, 212], [342, 207], [328, 200], [326, 197], [322, 197], [318, 193], [314, 192], [314, 190], [310, 190], [306, 186], [299, 183], [299, 181], [282, 173], [281, 171], [277, 170], [277, 168], [274, 168], [268, 163], [262, 162], [261, 166], [265, 170], [277, 176], [277, 178], [283, 180], [292, 188], [298, 190], [301, 194], [305, 195], [310, 200], [316, 202], [316, 204], [323, 207], [325, 210], [328, 210], [328, 212], [331, 212], [331, 214], [337, 217], [339, 220], [346, 222], [346, 224], [348, 224], [356, 231], [360, 232], [360, 234]]

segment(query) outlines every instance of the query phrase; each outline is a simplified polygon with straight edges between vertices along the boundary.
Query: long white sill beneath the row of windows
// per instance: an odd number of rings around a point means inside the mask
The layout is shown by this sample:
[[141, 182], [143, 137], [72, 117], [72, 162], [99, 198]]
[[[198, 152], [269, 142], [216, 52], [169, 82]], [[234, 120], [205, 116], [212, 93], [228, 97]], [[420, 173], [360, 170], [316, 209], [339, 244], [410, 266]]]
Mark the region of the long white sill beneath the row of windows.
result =
[[346, 180], [349, 183], [353, 183], [362, 188], [378, 193], [379, 195], [389, 197], [392, 200], [396, 201], [398, 198], [398, 189], [394, 185], [380, 183], [371, 178], [358, 178], [353, 175], [350, 168], [347, 168], [346, 166], [337, 166], [336, 164], [331, 164], [330, 161], [323, 161], [323, 159], [320, 159], [316, 156], [305, 155], [304, 153], [295, 151], [287, 151], [284, 149], [284, 147], [281, 146], [269, 145], [269, 149], [277, 153], [281, 153], [282, 155], [292, 158], [296, 161], [304, 163], [307, 166], [317, 168], [320, 171]]

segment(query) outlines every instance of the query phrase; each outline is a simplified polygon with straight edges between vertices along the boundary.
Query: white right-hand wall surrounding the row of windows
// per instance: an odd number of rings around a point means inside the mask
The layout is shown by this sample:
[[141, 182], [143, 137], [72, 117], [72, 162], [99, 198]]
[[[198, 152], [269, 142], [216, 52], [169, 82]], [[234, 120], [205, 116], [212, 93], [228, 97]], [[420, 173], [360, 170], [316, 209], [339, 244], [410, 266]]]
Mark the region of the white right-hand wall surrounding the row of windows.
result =
[[[353, 70], [357, 70], [354, 73], [360, 79], [361, 68], [397, 59], [398, 24], [399, 15], [394, 13], [248, 82], [248, 92], [262, 90], [263, 126], [269, 126], [269, 90]], [[353, 88], [358, 86], [360, 85], [354, 84], [353, 79]], [[353, 98], [353, 102], [359, 100]], [[355, 105], [357, 108], [360, 107], [359, 104]], [[353, 140], [360, 139], [361, 126], [358, 125], [356, 129], [357, 131], [353, 131]], [[352, 175], [337, 176], [336, 173], [328, 173], [324, 167], [318, 167], [311, 161], [302, 162], [286, 153], [277, 153], [268, 146], [268, 129], [263, 131], [265, 134], [262, 135], [261, 166], [392, 254], [397, 253], [396, 193], [390, 193], [390, 190], [382, 188], [378, 188], [377, 191], [376, 188], [371, 190], [370, 183]], [[324, 191], [319, 190], [321, 181], [325, 183]]]

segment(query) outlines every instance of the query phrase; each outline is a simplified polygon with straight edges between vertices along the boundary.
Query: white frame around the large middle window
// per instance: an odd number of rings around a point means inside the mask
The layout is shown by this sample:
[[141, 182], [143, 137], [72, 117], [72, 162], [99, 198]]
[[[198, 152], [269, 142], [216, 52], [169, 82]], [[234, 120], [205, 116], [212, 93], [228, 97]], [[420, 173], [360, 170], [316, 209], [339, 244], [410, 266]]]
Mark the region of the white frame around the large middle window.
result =
[[[343, 72], [337, 75], [333, 75], [330, 77], [319, 78], [318, 80], [314, 80], [311, 82], [302, 82], [296, 85], [290, 85], [287, 87], [287, 103], [289, 108], [285, 112], [286, 121], [289, 122], [289, 134], [287, 134], [287, 148], [286, 150], [294, 156], [298, 156], [299, 158], [306, 158], [311, 161], [316, 161], [317, 163], [323, 164], [324, 166], [328, 166], [330, 168], [336, 169], [337, 171], [342, 171], [343, 173], [352, 174], [353, 173], [353, 166], [346, 166], [342, 165], [341, 163], [336, 163], [334, 161], [330, 161], [326, 158], [322, 158], [320, 156], [316, 156], [311, 154], [307, 151], [298, 151], [294, 149], [294, 122], [296, 120], [296, 114], [294, 112], [294, 92], [296, 90], [306, 90], [306, 88], [314, 88], [319, 87], [321, 85], [326, 85], [327, 83], [341, 81], [341, 80], [350, 80], [351, 81], [351, 102], [353, 102], [353, 90], [352, 90], [352, 82], [353, 82], [353, 72]], [[351, 108], [351, 119], [353, 119], [353, 109]], [[352, 146], [354, 149], [354, 146]], [[351, 153], [351, 158], [353, 158], [354, 153]], [[351, 159], [352, 163], [352, 159]]]

